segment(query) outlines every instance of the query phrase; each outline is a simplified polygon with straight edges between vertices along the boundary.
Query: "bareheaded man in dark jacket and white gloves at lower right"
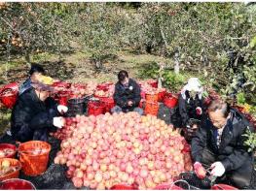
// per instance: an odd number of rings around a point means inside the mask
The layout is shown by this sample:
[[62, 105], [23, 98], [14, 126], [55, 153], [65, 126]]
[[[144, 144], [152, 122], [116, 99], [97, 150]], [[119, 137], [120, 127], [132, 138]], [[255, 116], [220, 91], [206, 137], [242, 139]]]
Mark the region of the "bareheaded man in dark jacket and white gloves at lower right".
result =
[[207, 112], [208, 117], [202, 120], [201, 128], [192, 139], [196, 174], [203, 178], [203, 166], [207, 166], [217, 182], [252, 189], [254, 157], [248, 152], [244, 134], [247, 130], [254, 132], [254, 128], [224, 101], [212, 101]]

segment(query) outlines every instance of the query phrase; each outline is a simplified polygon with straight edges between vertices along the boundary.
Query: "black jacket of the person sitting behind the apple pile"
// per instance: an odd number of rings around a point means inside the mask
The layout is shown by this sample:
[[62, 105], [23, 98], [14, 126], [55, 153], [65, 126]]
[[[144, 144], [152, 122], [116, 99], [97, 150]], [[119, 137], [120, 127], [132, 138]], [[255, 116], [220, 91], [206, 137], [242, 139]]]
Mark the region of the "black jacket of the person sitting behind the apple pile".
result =
[[[123, 111], [133, 111], [138, 107], [140, 102], [140, 87], [135, 80], [128, 80], [128, 86], [124, 86], [121, 82], [115, 85], [114, 100], [117, 106]], [[132, 106], [128, 106], [128, 101], [132, 101]]]

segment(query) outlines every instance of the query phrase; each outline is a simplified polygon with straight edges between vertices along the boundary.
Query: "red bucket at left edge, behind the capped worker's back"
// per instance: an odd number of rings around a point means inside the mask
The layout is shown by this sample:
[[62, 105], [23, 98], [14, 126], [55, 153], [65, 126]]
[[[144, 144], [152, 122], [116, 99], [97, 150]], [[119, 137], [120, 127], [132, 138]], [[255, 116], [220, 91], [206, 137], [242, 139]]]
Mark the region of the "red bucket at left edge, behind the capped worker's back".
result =
[[8, 109], [12, 109], [15, 106], [17, 98], [18, 91], [14, 91], [12, 88], [5, 88], [0, 93], [0, 100]]

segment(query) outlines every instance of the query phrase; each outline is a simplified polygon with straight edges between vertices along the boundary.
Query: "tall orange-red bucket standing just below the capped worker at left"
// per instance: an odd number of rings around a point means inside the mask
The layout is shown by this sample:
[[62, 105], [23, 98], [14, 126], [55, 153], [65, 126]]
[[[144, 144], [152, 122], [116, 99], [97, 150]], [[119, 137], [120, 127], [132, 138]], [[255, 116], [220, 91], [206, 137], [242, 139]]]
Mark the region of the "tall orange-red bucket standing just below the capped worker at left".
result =
[[48, 166], [51, 144], [40, 141], [20, 143], [19, 161], [25, 175], [42, 175]]

